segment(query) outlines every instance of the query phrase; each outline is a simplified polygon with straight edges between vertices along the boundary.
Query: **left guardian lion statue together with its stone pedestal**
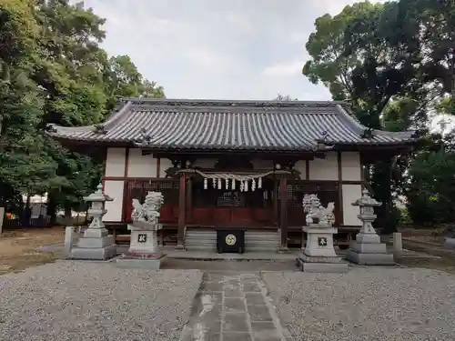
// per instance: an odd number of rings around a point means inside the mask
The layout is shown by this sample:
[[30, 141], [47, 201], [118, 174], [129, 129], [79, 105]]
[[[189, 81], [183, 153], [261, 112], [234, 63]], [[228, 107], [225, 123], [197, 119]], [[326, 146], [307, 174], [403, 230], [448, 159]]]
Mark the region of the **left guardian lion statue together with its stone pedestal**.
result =
[[131, 231], [129, 249], [116, 259], [117, 266], [159, 269], [166, 256], [157, 243], [157, 231], [162, 228], [159, 210], [163, 202], [160, 192], [148, 192], [143, 205], [133, 199], [133, 224], [128, 225]]

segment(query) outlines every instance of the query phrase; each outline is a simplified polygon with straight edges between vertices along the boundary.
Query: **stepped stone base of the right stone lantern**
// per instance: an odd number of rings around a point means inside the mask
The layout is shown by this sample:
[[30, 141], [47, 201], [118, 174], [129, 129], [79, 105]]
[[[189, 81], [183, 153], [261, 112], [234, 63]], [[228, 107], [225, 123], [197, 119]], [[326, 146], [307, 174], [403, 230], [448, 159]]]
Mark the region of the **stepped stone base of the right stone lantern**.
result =
[[362, 234], [356, 236], [349, 246], [346, 259], [360, 266], [393, 266], [393, 255], [387, 253], [387, 247], [380, 242], [377, 234]]

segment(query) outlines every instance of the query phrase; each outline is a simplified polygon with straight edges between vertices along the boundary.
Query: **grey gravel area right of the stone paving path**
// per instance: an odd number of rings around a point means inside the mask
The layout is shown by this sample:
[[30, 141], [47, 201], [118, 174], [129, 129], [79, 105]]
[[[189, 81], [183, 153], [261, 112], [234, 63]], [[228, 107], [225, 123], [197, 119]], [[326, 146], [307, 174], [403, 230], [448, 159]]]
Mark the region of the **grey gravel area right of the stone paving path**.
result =
[[427, 269], [264, 273], [295, 340], [455, 340], [455, 276]]

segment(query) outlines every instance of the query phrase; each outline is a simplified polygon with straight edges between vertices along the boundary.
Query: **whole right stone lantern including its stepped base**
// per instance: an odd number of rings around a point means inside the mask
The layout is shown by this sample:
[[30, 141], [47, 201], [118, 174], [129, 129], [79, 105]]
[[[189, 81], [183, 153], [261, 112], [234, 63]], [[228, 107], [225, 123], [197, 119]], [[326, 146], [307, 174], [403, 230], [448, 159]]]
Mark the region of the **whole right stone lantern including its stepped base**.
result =
[[389, 266], [394, 265], [393, 255], [387, 253], [386, 245], [380, 242], [380, 237], [372, 226], [376, 219], [374, 207], [382, 204], [369, 196], [368, 189], [362, 190], [362, 196], [352, 206], [360, 207], [359, 219], [362, 227], [356, 240], [350, 243], [346, 258], [362, 266]]

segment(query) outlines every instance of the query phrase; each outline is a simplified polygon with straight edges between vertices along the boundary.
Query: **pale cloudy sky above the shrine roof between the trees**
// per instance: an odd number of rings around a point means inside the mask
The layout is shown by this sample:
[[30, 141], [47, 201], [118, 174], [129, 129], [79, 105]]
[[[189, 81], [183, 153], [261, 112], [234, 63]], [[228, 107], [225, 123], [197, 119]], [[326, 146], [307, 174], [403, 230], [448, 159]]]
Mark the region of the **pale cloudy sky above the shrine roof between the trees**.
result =
[[320, 15], [351, 0], [86, 0], [107, 19], [103, 47], [130, 55], [169, 98], [329, 99], [301, 74]]

